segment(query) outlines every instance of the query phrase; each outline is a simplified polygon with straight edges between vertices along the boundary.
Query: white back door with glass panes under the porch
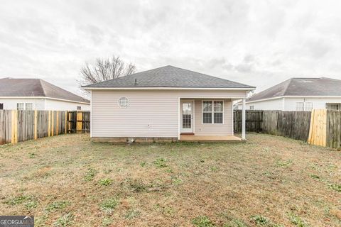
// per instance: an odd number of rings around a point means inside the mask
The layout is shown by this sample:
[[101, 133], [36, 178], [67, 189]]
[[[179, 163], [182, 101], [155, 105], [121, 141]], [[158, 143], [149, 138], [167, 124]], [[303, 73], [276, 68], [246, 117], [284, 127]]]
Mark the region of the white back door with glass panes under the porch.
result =
[[181, 133], [193, 133], [193, 101], [181, 101]]

